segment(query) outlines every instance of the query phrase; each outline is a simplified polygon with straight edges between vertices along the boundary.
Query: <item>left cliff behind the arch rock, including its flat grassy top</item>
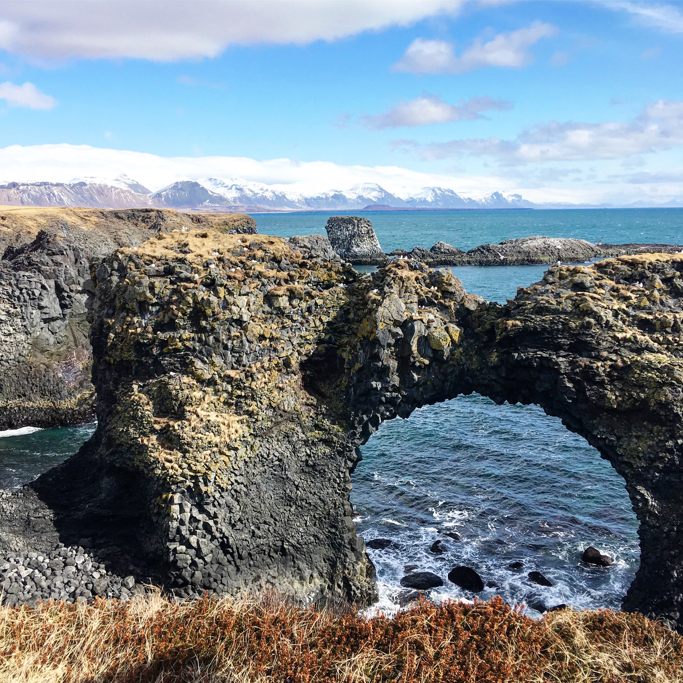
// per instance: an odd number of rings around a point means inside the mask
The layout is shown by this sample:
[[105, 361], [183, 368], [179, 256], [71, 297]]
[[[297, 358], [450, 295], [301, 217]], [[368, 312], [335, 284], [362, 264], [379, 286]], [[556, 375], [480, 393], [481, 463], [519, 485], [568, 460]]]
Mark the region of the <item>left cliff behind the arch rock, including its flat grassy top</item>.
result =
[[150, 234], [206, 226], [256, 232], [239, 215], [0, 208], [0, 242], [9, 243], [0, 260], [0, 430], [92, 419], [90, 264]]

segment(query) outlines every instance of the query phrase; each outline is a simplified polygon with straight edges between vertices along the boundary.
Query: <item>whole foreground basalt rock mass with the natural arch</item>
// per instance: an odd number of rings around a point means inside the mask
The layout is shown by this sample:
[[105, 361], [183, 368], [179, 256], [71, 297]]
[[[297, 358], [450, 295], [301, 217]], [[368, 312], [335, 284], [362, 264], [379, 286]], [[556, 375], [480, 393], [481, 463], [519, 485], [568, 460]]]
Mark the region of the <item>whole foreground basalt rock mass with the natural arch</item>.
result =
[[180, 596], [372, 602], [358, 447], [476, 391], [539, 404], [624, 477], [641, 539], [624, 608], [681, 628], [682, 273], [667, 254], [553, 266], [500, 306], [417, 261], [359, 275], [316, 236], [120, 249], [92, 273], [97, 432], [3, 500], [1, 542], [92, 538]]

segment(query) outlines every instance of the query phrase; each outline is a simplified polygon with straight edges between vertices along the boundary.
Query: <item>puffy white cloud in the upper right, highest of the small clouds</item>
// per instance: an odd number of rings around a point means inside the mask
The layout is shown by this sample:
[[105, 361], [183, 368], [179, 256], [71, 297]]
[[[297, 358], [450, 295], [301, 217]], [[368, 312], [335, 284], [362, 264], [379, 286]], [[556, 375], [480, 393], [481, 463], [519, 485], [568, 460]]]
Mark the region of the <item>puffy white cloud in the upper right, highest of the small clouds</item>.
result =
[[394, 64], [393, 70], [413, 74], [460, 74], [486, 66], [519, 68], [533, 62], [533, 55], [529, 52], [531, 45], [541, 38], [556, 35], [557, 28], [552, 24], [534, 21], [527, 28], [499, 33], [486, 43], [475, 38], [460, 57], [456, 57], [451, 43], [415, 38], [403, 58]]

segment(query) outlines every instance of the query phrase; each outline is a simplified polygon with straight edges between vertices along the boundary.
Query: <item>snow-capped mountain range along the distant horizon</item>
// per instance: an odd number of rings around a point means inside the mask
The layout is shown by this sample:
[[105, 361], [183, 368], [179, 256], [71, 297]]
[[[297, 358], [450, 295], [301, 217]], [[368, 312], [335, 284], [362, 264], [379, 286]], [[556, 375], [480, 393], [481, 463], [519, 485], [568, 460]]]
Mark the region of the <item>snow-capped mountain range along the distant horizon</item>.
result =
[[[462, 197], [454, 190], [426, 187], [421, 192], [400, 197], [376, 183], [363, 183], [347, 190], [329, 190], [304, 195], [274, 189], [260, 182], [239, 178], [200, 178], [178, 180], [157, 191], [120, 175], [117, 178], [80, 178], [71, 182], [5, 182], [0, 184], [0, 205], [81, 206], [89, 208], [136, 208], [156, 206], [207, 212], [275, 211], [358, 211], [401, 209], [484, 209], [484, 208], [611, 208], [601, 204], [533, 204], [521, 195], [492, 192], [482, 197]], [[630, 205], [644, 208], [642, 201]], [[672, 199], [666, 207], [681, 207]]]

